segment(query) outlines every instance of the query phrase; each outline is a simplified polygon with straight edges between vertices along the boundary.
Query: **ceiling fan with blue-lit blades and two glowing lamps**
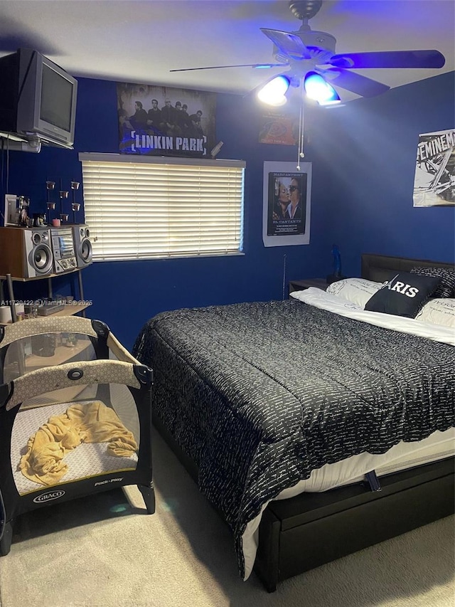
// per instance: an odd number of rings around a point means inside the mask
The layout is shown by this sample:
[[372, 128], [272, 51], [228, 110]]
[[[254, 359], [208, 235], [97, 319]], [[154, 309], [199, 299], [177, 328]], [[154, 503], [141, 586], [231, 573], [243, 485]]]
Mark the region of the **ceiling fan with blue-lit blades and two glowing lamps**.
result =
[[[286, 102], [289, 87], [304, 85], [306, 96], [320, 105], [340, 102], [331, 85], [349, 90], [362, 97], [374, 97], [389, 90], [389, 86], [353, 72], [364, 68], [441, 68], [445, 63], [439, 51], [370, 51], [336, 54], [336, 38], [330, 33], [313, 31], [309, 19], [321, 9], [322, 0], [290, 0], [291, 13], [301, 20], [298, 31], [286, 32], [260, 28], [274, 44], [273, 56], [278, 63], [247, 63], [242, 65], [212, 65], [171, 72], [213, 70], [219, 68], [275, 68], [287, 71], [275, 76], [258, 88], [258, 96], [270, 105]], [[256, 90], [256, 89], [255, 89]], [[267, 100], [268, 99], [268, 100]]]

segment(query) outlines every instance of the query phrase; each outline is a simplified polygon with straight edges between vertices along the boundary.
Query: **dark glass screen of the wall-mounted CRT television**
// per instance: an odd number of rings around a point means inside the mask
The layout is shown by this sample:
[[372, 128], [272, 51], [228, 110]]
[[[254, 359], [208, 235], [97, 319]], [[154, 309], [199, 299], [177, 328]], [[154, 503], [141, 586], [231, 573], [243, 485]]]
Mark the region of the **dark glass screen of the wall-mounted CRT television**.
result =
[[72, 101], [73, 84], [44, 63], [40, 120], [69, 131]]

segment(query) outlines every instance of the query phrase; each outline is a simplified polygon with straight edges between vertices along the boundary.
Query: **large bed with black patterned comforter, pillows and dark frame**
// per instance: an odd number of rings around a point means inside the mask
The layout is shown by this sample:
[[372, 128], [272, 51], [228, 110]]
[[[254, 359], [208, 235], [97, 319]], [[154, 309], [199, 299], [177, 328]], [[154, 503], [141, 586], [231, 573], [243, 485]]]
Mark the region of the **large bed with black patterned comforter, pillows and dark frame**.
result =
[[368, 304], [335, 283], [162, 312], [141, 329], [154, 423], [232, 529], [243, 579], [254, 568], [274, 591], [454, 512], [455, 331], [375, 311], [391, 292], [406, 305], [422, 295], [422, 314], [439, 272], [449, 305], [452, 264], [365, 254]]

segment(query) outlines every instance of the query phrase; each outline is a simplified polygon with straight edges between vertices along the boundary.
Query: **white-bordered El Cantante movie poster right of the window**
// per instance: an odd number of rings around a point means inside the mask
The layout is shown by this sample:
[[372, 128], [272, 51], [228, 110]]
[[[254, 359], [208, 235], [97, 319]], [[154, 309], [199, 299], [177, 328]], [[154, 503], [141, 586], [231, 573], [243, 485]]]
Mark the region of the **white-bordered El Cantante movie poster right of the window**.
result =
[[311, 162], [264, 162], [264, 246], [310, 241]]

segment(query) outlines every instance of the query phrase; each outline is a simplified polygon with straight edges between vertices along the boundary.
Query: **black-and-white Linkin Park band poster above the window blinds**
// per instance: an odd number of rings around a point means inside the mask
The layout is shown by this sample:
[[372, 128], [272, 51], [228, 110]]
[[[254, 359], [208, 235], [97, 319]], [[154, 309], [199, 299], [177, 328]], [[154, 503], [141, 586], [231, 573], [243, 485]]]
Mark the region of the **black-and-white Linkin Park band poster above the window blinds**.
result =
[[119, 152], [204, 157], [215, 145], [216, 93], [117, 83]]

